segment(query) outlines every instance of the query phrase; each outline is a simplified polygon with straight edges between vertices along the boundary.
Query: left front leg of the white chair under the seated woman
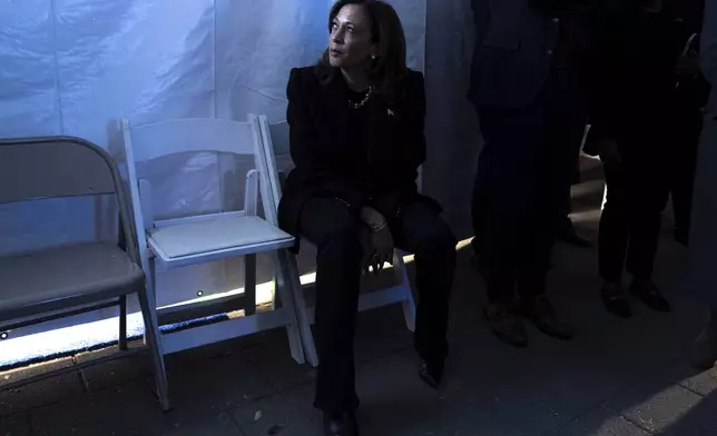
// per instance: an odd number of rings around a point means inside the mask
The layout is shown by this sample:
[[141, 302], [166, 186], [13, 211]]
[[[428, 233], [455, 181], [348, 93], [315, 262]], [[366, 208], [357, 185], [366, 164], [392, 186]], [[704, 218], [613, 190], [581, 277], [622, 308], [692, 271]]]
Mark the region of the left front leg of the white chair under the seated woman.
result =
[[[288, 297], [293, 300], [293, 309], [296, 314], [304, 357], [311, 366], [316, 367], [318, 366], [318, 354], [316, 353], [316, 345], [314, 344], [314, 335], [311, 328], [306, 299], [304, 298], [304, 291], [302, 290], [296, 258], [288, 252], [288, 250], [282, 250], [279, 251], [279, 265], [282, 267], [279, 270], [284, 275], [284, 288], [288, 290], [286, 294], [291, 294]], [[282, 300], [286, 298], [287, 297], [282, 295]]]

